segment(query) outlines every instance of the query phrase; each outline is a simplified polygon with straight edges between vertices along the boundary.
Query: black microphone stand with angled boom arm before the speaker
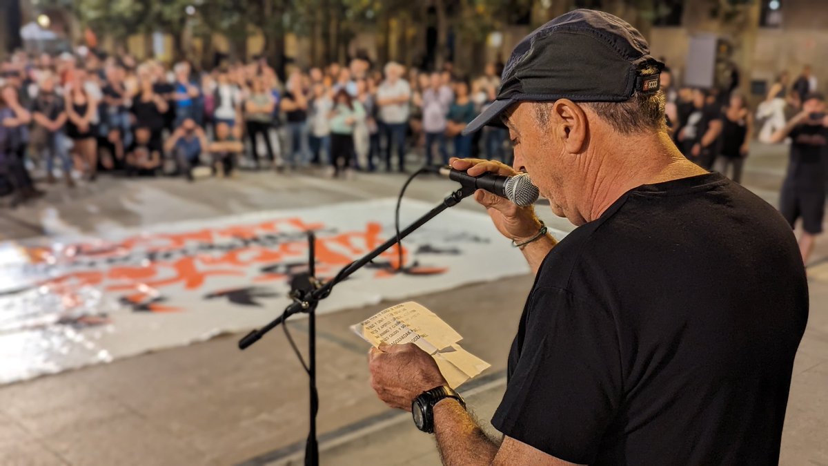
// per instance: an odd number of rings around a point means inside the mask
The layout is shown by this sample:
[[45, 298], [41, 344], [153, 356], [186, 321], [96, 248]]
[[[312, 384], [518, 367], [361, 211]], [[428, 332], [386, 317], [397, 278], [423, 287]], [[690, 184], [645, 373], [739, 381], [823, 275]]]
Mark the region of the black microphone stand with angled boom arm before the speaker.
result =
[[279, 317], [272, 320], [266, 326], [260, 329], [253, 329], [250, 333], [245, 335], [238, 341], [238, 348], [245, 349], [250, 347], [255, 342], [258, 342], [266, 333], [276, 328], [280, 323], [284, 323], [286, 318], [296, 313], [308, 313], [308, 376], [309, 392], [310, 392], [310, 431], [305, 447], [305, 464], [306, 466], [318, 466], [319, 464], [319, 443], [316, 439], [316, 414], [319, 411], [319, 397], [316, 392], [316, 306], [322, 299], [330, 295], [331, 290], [336, 284], [354, 274], [364, 265], [374, 260], [378, 255], [383, 254], [390, 249], [397, 242], [412, 234], [413, 231], [425, 225], [427, 221], [438, 216], [440, 212], [445, 211], [449, 207], [456, 206], [465, 197], [474, 194], [474, 187], [460, 187], [449, 196], [445, 197], [443, 202], [431, 209], [426, 215], [421, 216], [417, 221], [401, 231], [399, 236], [394, 236], [387, 240], [377, 249], [369, 252], [362, 259], [346, 265], [344, 269], [339, 271], [334, 279], [322, 284], [315, 277], [315, 234], [313, 231], [308, 232], [308, 273], [300, 275], [291, 281], [291, 298], [293, 303], [285, 308], [285, 311]]

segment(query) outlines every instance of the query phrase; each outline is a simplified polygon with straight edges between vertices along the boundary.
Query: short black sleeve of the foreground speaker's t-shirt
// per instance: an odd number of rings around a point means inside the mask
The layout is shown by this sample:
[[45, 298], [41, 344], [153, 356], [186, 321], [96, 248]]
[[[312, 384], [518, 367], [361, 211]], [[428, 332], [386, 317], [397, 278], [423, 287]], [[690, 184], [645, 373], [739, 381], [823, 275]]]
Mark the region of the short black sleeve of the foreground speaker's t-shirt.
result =
[[566, 289], [541, 287], [525, 325], [492, 425], [558, 459], [591, 464], [622, 399], [614, 318]]

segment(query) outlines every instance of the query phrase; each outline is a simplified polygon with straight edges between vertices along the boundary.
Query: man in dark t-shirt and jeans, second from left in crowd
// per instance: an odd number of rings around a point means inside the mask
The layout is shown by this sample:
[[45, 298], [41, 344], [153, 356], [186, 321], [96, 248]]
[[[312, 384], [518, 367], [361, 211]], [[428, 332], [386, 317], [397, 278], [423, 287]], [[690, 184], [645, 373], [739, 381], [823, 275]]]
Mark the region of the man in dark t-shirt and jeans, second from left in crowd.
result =
[[55, 77], [49, 72], [41, 74], [37, 97], [31, 106], [34, 121], [32, 139], [42, 141], [39, 149], [46, 149], [46, 182], [55, 182], [55, 157], [63, 163], [63, 177], [66, 186], [75, 187], [72, 180], [72, 159], [66, 150], [64, 126], [66, 124], [66, 106], [60, 95], [55, 92]]

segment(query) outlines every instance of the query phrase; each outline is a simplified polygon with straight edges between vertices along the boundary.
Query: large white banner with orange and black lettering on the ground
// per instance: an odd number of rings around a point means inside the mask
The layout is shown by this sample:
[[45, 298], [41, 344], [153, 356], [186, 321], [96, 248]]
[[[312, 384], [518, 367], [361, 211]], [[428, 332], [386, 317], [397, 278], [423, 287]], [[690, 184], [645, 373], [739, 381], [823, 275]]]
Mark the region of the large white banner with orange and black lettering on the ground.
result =
[[[182, 221], [103, 238], [0, 244], [0, 383], [269, 322], [305, 269], [330, 278], [394, 234], [396, 200]], [[404, 201], [402, 226], [431, 209]], [[339, 284], [320, 313], [529, 271], [483, 213], [450, 209]], [[367, 316], [366, 316], [367, 317]]]

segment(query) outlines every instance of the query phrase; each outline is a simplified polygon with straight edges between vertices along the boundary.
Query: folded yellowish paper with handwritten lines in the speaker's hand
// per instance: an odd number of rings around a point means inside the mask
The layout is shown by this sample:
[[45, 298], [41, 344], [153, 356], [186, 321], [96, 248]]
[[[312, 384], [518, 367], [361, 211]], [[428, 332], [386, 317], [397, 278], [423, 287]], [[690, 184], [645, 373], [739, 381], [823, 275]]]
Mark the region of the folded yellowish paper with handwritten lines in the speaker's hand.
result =
[[434, 358], [452, 388], [491, 366], [457, 344], [463, 339], [460, 333], [413, 301], [383, 309], [351, 330], [374, 347], [414, 343]]

